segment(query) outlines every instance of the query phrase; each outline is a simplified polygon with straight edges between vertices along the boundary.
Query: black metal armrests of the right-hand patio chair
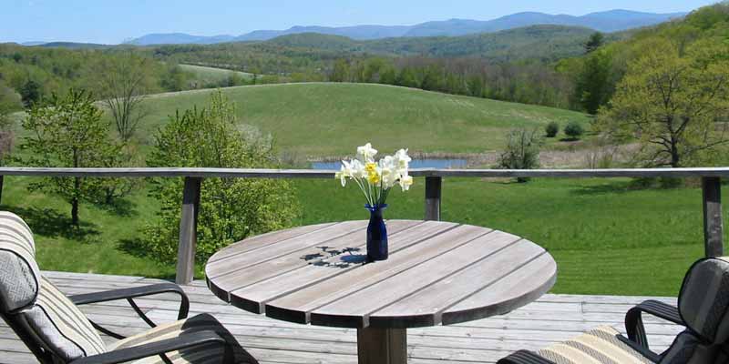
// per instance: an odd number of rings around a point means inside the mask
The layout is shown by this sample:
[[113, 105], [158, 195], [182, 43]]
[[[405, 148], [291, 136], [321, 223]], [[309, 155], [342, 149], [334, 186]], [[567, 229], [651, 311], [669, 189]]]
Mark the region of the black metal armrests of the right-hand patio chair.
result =
[[[642, 314], [647, 313], [660, 319], [666, 319], [674, 324], [685, 327], [678, 308], [665, 304], [661, 301], [646, 300], [631, 308], [625, 314], [625, 330], [628, 332], [628, 339], [623, 342], [630, 345], [632, 349], [640, 352], [643, 356], [653, 362], [659, 362], [661, 355], [653, 352], [648, 347], [648, 339], [645, 335]], [[498, 364], [555, 364], [529, 350], [519, 350], [504, 359], [498, 360]]]

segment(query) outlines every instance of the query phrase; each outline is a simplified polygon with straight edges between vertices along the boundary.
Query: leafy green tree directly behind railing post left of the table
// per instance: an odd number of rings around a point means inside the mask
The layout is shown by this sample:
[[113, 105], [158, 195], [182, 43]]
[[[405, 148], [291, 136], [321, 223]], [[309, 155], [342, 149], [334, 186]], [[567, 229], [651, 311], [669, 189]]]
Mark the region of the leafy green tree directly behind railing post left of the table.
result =
[[[175, 116], [159, 130], [148, 158], [150, 167], [275, 167], [271, 141], [237, 126], [233, 105], [221, 92], [210, 105]], [[154, 181], [159, 220], [145, 228], [142, 244], [150, 255], [174, 261], [180, 227], [182, 181]], [[284, 180], [206, 178], [202, 182], [197, 256], [255, 234], [291, 225], [298, 215], [292, 185]]]

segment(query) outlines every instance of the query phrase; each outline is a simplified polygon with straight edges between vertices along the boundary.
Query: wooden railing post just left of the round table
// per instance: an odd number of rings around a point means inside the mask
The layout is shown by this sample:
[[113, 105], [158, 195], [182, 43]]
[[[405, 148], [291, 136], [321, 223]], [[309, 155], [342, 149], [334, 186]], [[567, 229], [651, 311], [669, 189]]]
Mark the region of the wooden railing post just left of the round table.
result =
[[185, 285], [195, 278], [195, 247], [198, 242], [198, 212], [200, 210], [200, 177], [185, 177], [180, 218], [180, 245], [177, 252], [175, 282]]

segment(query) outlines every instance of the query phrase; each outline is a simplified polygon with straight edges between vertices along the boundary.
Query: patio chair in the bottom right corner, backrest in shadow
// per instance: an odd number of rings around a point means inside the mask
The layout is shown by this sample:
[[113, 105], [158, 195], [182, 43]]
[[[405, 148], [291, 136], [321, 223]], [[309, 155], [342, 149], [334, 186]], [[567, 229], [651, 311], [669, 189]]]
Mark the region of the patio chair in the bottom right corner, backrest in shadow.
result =
[[[642, 314], [685, 328], [662, 353], [648, 346]], [[625, 316], [625, 338], [601, 327], [536, 352], [519, 350], [498, 364], [729, 363], [729, 257], [703, 258], [683, 278], [678, 307], [647, 300]]]

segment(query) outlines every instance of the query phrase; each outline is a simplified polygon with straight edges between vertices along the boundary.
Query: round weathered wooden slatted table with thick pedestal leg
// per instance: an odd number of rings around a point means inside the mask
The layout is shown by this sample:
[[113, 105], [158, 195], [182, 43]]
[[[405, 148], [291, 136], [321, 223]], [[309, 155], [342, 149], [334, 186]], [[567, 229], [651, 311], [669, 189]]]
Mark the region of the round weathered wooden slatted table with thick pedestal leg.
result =
[[507, 313], [554, 285], [547, 251], [487, 227], [387, 221], [390, 258], [364, 264], [367, 221], [295, 227], [213, 255], [208, 287], [232, 305], [357, 329], [360, 363], [406, 363], [406, 329]]

